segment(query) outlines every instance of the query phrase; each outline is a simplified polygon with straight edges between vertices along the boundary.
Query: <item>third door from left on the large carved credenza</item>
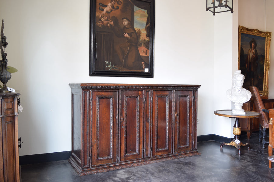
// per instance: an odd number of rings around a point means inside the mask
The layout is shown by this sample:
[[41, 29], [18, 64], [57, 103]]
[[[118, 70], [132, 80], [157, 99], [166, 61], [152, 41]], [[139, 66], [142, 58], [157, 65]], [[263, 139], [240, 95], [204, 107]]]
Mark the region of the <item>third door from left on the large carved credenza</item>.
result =
[[172, 153], [172, 90], [153, 90], [152, 156]]

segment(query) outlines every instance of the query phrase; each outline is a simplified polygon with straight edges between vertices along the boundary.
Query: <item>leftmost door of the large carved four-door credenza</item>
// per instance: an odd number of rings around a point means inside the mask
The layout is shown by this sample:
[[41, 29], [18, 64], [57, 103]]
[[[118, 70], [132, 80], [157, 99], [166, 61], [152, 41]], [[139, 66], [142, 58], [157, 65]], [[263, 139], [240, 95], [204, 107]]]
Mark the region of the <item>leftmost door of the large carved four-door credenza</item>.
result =
[[92, 91], [91, 165], [116, 163], [118, 91]]

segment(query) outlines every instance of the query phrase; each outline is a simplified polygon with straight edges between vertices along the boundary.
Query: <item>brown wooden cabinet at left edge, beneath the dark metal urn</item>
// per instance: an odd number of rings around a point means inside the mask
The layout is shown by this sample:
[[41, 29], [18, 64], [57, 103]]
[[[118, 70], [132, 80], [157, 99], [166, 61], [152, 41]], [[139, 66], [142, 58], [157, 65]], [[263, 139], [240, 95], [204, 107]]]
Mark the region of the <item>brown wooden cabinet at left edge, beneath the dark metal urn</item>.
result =
[[0, 93], [0, 181], [19, 182], [18, 107], [19, 93]]

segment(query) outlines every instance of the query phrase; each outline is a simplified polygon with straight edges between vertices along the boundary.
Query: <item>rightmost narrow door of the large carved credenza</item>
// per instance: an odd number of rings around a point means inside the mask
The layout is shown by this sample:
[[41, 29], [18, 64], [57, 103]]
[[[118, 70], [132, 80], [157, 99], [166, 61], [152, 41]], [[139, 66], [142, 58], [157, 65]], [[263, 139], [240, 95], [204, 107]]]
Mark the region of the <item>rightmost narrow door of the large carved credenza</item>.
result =
[[192, 149], [192, 91], [175, 91], [174, 153]]

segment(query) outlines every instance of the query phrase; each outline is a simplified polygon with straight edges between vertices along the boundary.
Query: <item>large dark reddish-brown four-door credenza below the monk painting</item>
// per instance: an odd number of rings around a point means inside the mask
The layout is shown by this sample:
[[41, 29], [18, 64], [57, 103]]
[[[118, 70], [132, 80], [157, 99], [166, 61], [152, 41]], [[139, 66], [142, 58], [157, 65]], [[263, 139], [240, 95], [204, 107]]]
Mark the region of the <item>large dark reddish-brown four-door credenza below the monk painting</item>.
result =
[[200, 85], [69, 84], [80, 176], [199, 155]]

